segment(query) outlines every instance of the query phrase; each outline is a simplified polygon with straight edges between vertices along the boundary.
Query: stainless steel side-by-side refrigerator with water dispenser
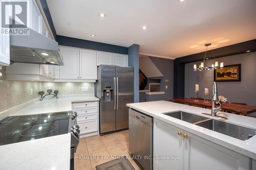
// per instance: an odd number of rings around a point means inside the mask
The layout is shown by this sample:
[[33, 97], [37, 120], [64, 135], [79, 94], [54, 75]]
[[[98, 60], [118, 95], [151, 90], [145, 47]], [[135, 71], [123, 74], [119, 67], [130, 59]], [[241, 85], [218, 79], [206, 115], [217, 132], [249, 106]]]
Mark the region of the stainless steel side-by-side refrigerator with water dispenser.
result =
[[100, 134], [129, 128], [129, 108], [134, 102], [133, 67], [100, 65], [96, 96], [100, 99]]

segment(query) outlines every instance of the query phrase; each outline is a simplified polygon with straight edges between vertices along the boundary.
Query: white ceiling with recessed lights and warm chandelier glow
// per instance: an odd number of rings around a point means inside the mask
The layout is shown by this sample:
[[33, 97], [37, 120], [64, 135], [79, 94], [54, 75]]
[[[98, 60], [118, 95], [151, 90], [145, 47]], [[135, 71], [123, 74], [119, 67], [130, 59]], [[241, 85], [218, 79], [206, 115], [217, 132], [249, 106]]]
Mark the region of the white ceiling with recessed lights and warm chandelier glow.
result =
[[[58, 35], [127, 47], [136, 43], [141, 54], [152, 56], [178, 58], [205, 51], [206, 42], [216, 45], [213, 49], [256, 38], [255, 0], [47, 0], [47, 4]], [[101, 18], [100, 12], [106, 17]], [[148, 29], [142, 30], [143, 25]]]

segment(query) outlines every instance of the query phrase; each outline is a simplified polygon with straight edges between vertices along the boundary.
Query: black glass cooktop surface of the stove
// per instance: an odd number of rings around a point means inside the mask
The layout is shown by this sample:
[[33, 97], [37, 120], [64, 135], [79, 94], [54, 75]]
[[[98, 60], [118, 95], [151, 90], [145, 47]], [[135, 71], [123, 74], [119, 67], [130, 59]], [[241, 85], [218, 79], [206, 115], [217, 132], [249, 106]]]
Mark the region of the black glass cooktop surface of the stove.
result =
[[66, 134], [71, 112], [10, 116], [0, 121], [0, 145]]

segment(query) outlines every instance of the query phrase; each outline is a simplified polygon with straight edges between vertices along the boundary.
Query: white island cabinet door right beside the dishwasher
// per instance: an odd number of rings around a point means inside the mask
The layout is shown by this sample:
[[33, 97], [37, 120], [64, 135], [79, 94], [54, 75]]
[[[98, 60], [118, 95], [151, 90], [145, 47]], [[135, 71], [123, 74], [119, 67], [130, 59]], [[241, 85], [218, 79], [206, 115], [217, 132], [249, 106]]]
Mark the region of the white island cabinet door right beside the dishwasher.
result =
[[182, 147], [184, 141], [182, 132], [177, 127], [168, 125], [156, 118], [154, 119], [154, 169], [182, 169]]

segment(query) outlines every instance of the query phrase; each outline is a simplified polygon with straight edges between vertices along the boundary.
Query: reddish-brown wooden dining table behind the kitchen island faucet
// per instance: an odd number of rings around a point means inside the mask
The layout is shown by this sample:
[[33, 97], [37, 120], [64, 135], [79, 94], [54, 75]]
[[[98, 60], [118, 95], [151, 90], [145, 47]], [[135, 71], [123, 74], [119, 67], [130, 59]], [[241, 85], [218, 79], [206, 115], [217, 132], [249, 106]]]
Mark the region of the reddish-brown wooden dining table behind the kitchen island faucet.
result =
[[[191, 98], [170, 99], [170, 101], [187, 104], [191, 106], [211, 108], [211, 101], [208, 101], [208, 103], [206, 103], [205, 100], [201, 100], [201, 99], [199, 99], [198, 102], [196, 102], [195, 99], [191, 99]], [[222, 103], [221, 105], [222, 105], [221, 109], [227, 112], [233, 112], [233, 113], [242, 114], [242, 115], [247, 115], [247, 114], [256, 112], [255, 106], [247, 106], [247, 105], [236, 104], [236, 103]]]

